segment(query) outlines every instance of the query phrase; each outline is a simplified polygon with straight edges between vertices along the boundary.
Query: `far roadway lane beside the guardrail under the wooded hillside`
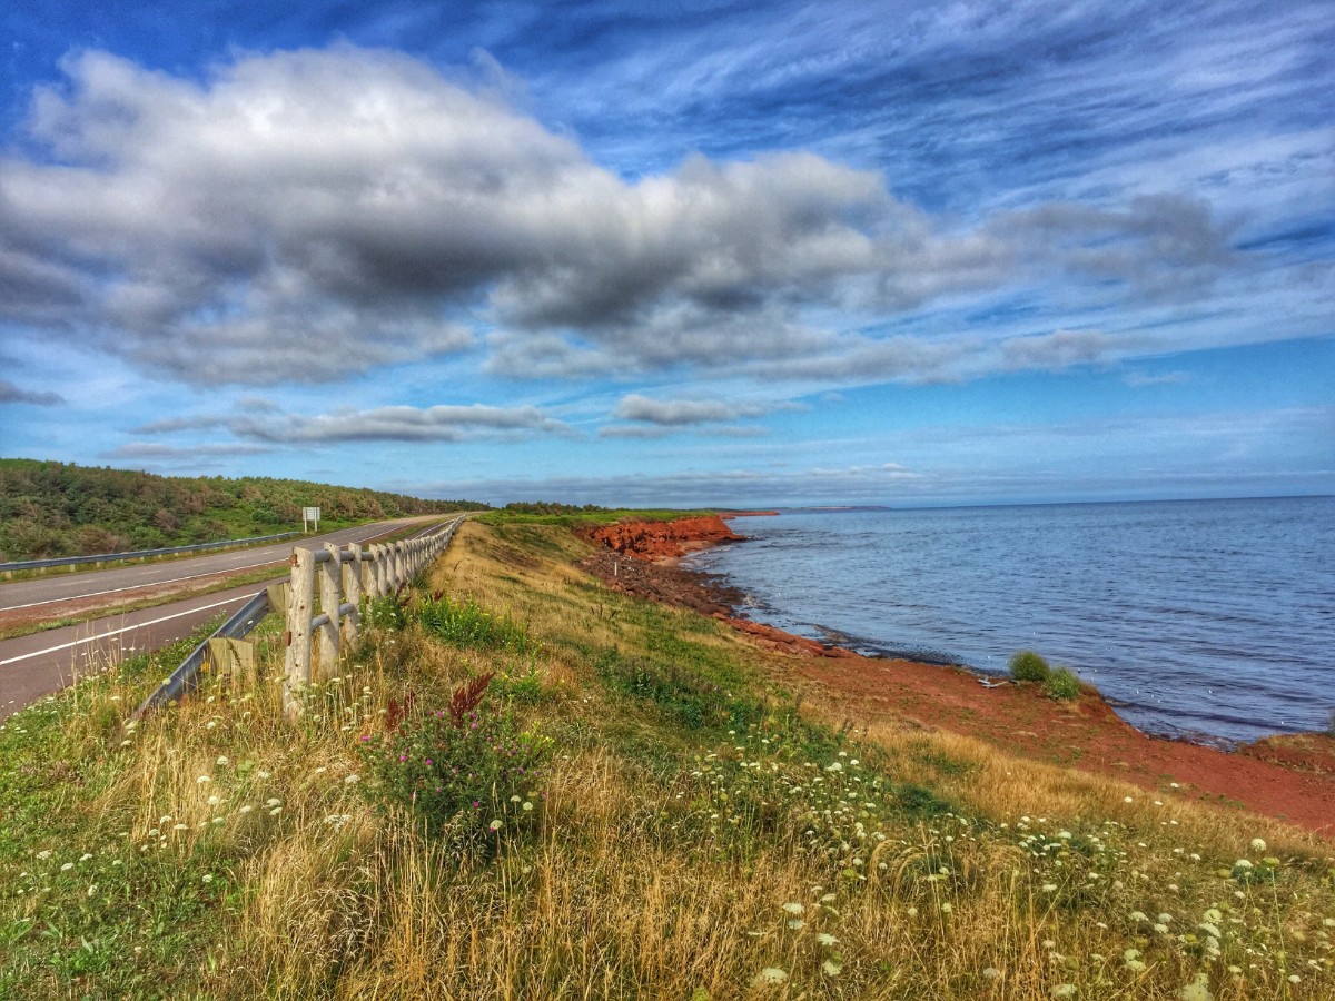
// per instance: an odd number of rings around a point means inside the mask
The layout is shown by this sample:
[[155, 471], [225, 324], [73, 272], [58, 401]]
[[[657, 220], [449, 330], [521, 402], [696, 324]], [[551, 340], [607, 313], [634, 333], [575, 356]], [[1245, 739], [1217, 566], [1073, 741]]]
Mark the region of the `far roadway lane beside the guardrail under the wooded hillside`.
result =
[[310, 547], [332, 542], [346, 546], [350, 542], [366, 542], [376, 535], [384, 535], [415, 521], [421, 519], [398, 518], [390, 522], [359, 525], [355, 529], [344, 529], [326, 535], [312, 535], [304, 541], [287, 539], [272, 546], [183, 557], [163, 563], [129, 563], [95, 573], [60, 574], [56, 571], [31, 581], [0, 583], [0, 622], [3, 622], [5, 611], [20, 611], [92, 597], [104, 597], [109, 605], [115, 601], [117, 591], [132, 591], [148, 585], [174, 583], [220, 573], [243, 573], [262, 566], [276, 566], [292, 555], [294, 545]]

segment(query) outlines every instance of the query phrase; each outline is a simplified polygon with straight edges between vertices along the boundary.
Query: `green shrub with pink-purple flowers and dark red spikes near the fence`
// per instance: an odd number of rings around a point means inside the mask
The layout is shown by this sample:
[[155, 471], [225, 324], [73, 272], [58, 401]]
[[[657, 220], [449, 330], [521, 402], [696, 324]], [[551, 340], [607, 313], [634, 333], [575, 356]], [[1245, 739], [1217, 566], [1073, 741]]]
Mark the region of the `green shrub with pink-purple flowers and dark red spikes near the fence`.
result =
[[518, 731], [507, 709], [483, 710], [490, 681], [461, 687], [449, 709], [362, 738], [368, 793], [407, 807], [435, 833], [453, 827], [466, 840], [530, 825], [551, 739]]

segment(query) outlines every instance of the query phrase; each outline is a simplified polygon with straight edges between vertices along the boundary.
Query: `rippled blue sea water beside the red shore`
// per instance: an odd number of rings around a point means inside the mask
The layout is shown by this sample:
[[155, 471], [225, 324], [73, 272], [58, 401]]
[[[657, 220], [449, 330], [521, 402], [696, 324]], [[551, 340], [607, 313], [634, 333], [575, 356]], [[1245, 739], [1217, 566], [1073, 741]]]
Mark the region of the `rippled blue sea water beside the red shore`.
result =
[[1335, 498], [794, 511], [692, 557], [752, 618], [1004, 673], [1033, 649], [1151, 733], [1247, 741], [1335, 709]]

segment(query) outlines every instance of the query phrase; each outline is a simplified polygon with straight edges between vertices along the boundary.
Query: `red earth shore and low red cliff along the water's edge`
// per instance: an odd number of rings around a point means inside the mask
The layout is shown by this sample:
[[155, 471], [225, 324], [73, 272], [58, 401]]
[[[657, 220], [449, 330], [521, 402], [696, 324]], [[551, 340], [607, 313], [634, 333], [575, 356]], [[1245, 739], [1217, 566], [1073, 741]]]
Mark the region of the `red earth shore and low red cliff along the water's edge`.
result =
[[1148, 737], [1093, 693], [1053, 702], [1036, 686], [984, 687], [963, 669], [861, 657], [737, 618], [737, 591], [674, 566], [692, 549], [742, 538], [721, 518], [623, 522], [585, 537], [607, 547], [582, 562], [605, 583], [726, 619], [758, 645], [788, 654], [801, 689], [833, 699], [858, 722], [952, 730], [1021, 757], [1116, 775], [1161, 795], [1243, 807], [1335, 837], [1335, 739], [1328, 734], [1272, 737], [1222, 751]]

